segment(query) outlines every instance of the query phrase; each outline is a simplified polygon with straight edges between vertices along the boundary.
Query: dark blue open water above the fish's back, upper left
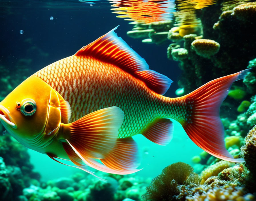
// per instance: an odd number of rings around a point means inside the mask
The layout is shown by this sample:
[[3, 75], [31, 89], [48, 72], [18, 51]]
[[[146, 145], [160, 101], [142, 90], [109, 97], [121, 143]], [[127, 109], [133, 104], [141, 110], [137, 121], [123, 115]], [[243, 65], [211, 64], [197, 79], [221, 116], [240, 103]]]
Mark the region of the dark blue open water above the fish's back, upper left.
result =
[[[167, 59], [168, 44], [144, 44], [141, 39], [128, 37], [126, 32], [133, 26], [123, 18], [116, 18], [116, 14], [111, 13], [108, 1], [98, 1], [93, 6], [78, 0], [52, 2], [0, 2], [0, 65], [15, 71], [19, 59], [32, 59], [28, 66], [31, 75], [59, 59], [75, 54], [84, 45], [120, 25], [116, 30], [118, 36], [146, 60], [150, 69], [174, 81], [166, 96], [176, 96], [181, 71], [177, 62]], [[52, 21], [51, 16], [54, 17]], [[20, 30], [24, 33], [20, 34]]]

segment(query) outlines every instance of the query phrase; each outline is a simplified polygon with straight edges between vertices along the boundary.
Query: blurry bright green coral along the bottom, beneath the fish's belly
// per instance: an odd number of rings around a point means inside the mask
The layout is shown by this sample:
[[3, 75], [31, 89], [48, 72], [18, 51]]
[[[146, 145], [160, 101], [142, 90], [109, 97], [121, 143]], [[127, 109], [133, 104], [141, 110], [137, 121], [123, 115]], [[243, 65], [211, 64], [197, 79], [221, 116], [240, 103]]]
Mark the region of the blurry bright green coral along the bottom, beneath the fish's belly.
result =
[[23, 190], [23, 195], [28, 200], [42, 201], [140, 201], [147, 185], [138, 176], [116, 177], [107, 173], [100, 173], [99, 176], [104, 180], [75, 173], [72, 178], [50, 180], [39, 187], [31, 185]]

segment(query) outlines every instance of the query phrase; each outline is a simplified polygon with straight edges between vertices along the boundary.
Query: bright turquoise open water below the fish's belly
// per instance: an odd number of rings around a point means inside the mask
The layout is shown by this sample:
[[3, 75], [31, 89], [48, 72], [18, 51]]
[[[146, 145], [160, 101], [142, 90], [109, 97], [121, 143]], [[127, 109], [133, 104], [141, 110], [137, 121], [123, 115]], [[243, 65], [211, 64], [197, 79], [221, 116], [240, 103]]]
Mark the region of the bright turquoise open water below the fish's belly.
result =
[[[133, 138], [138, 143], [142, 156], [139, 169], [143, 168], [136, 175], [143, 176], [144, 178], [157, 176], [163, 168], [175, 162], [182, 161], [193, 165], [191, 158], [203, 151], [192, 142], [181, 124], [176, 121], [174, 123], [173, 139], [167, 146], [157, 145], [140, 134]], [[34, 150], [29, 150], [29, 154], [35, 170], [40, 172], [44, 181], [70, 176], [74, 172], [82, 172], [82, 170], [77, 171], [76, 168], [58, 164], [48, 156]]]

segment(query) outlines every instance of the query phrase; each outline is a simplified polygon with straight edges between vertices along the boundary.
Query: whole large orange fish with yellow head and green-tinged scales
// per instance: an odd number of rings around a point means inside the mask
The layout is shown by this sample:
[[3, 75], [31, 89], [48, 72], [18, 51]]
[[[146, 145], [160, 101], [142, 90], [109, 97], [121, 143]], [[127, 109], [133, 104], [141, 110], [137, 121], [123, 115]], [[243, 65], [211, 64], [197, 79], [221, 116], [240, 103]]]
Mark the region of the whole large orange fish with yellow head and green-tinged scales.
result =
[[244, 162], [225, 148], [219, 109], [232, 83], [250, 69], [217, 78], [182, 97], [165, 97], [173, 81], [150, 70], [115, 29], [37, 71], [7, 95], [0, 102], [5, 129], [21, 144], [61, 164], [90, 174], [91, 168], [131, 174], [140, 170], [141, 161], [133, 136], [142, 134], [167, 145], [174, 119], [209, 154]]

